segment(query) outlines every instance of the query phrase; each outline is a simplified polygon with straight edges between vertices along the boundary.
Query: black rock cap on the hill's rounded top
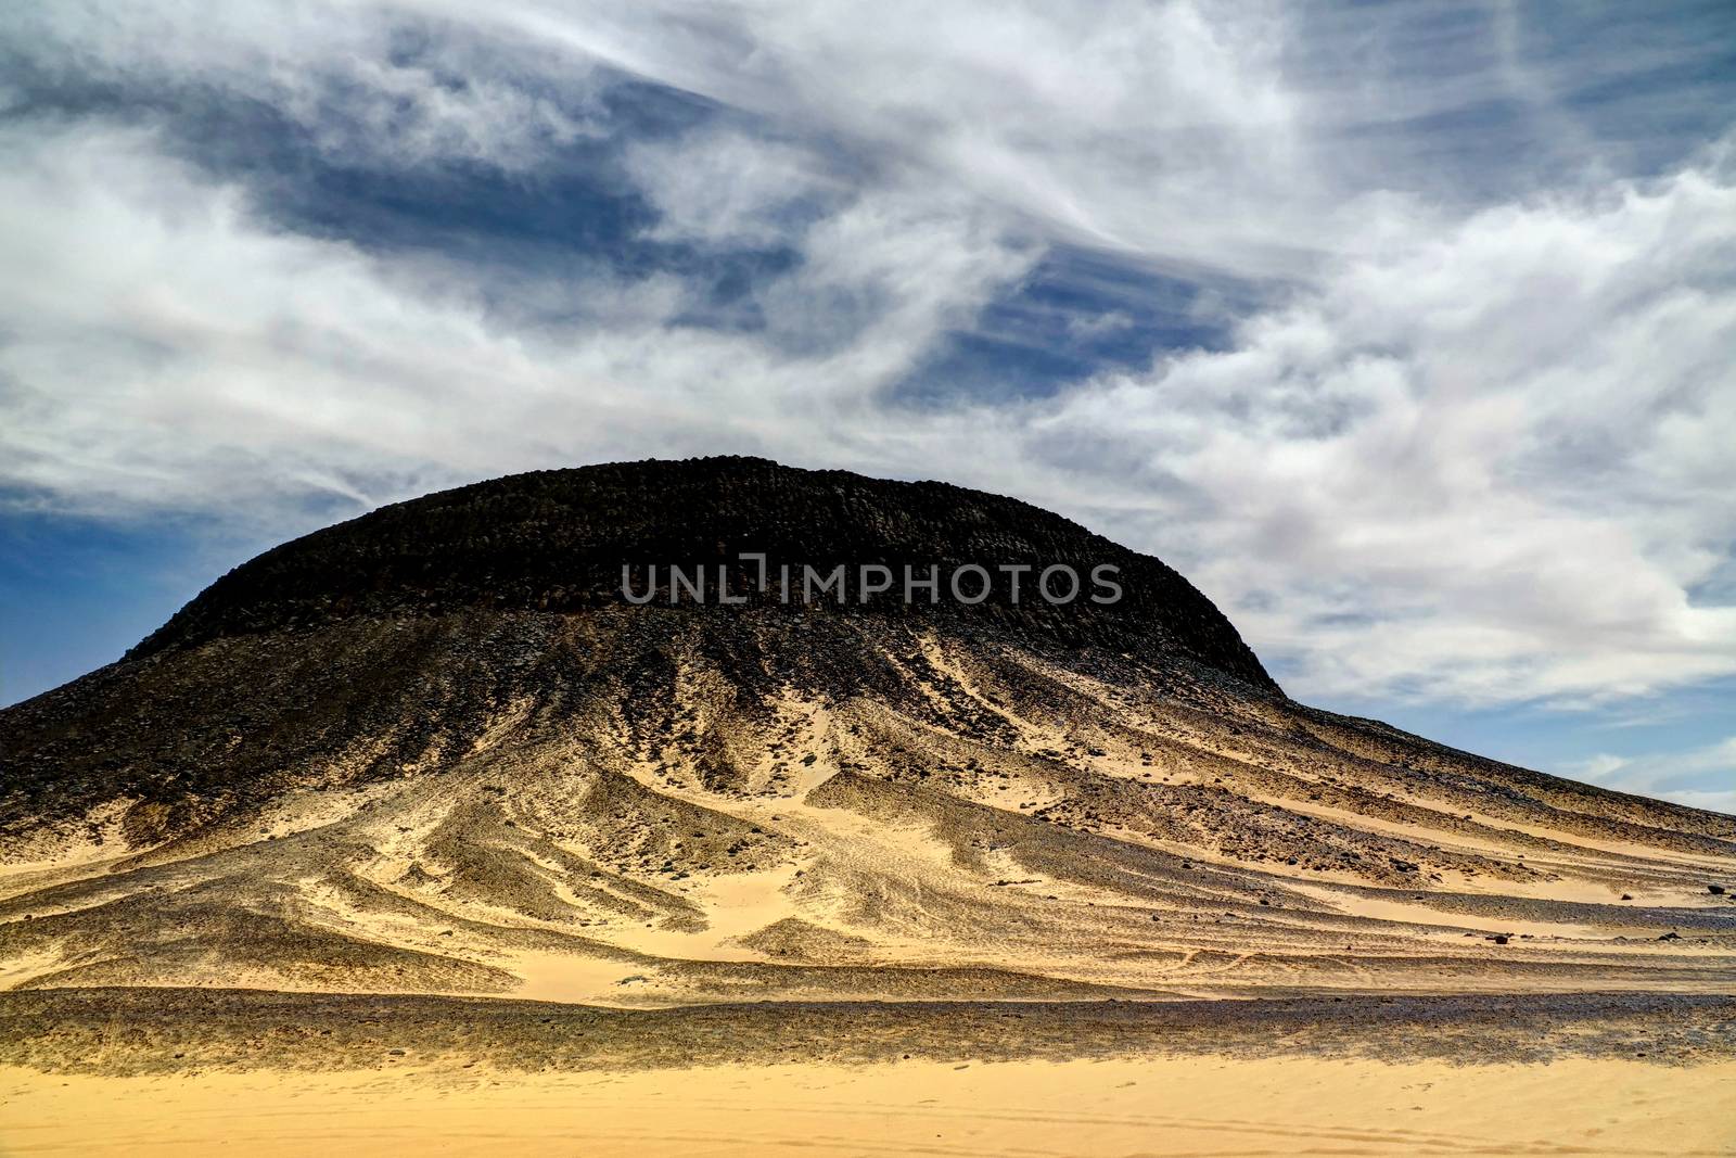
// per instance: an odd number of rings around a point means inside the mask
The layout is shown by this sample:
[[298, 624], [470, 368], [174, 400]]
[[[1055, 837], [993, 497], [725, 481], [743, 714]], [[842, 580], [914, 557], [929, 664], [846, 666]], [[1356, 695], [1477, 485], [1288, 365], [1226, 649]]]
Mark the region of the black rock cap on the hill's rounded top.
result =
[[[222, 576], [130, 658], [222, 635], [307, 627], [356, 615], [439, 613], [462, 608], [580, 609], [621, 604], [621, 568], [660, 568], [658, 602], [668, 604], [667, 568], [703, 566], [715, 590], [717, 566], [733, 569], [733, 590], [755, 602], [757, 564], [830, 573], [844, 564], [856, 601], [856, 569], [884, 564], [894, 590], [870, 611], [981, 620], [1064, 646], [1095, 644], [1215, 668], [1276, 693], [1266, 668], [1186, 578], [1153, 559], [1092, 535], [1076, 523], [1012, 498], [946, 483], [889, 483], [844, 470], [797, 470], [764, 458], [634, 462], [538, 470], [427, 495], [314, 531], [267, 550]], [[993, 576], [988, 599], [960, 604], [946, 594], [955, 568], [977, 564]], [[1002, 564], [1031, 566], [1012, 601]], [[1038, 573], [1066, 564], [1080, 576], [1071, 602], [1033, 592]], [[1118, 568], [1113, 604], [1092, 602], [1092, 568]], [[939, 568], [937, 604], [925, 590], [903, 601], [904, 568], [918, 578]], [[977, 580], [967, 580], [976, 595]], [[1064, 592], [1062, 576], [1054, 590]], [[637, 590], [644, 590], [639, 587]], [[792, 606], [790, 613], [800, 613]]]

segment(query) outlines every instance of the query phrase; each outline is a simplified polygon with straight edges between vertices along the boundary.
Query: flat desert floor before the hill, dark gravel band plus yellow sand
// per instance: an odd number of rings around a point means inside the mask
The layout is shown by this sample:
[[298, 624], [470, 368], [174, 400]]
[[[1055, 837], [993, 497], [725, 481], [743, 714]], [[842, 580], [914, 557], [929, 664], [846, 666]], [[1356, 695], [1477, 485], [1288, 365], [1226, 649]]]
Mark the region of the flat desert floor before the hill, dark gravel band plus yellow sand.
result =
[[[0, 1155], [1720, 1155], [1736, 998], [0, 993]], [[703, 1063], [703, 1064], [696, 1064]]]

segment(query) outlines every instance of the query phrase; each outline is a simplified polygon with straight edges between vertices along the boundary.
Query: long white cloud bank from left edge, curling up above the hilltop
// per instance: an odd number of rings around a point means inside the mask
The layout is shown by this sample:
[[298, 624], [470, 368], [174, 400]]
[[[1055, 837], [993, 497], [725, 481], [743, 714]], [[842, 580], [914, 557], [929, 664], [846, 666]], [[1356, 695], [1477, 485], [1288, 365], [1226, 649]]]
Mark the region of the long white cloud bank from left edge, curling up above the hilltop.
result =
[[[151, 132], [0, 134], [3, 481], [75, 510], [297, 519], [441, 483], [644, 453], [823, 462], [875, 389], [1026, 257], [969, 207], [877, 189], [800, 234], [748, 333], [691, 286], [564, 286], [602, 325], [519, 326], [453, 269], [274, 231]], [[252, 512], [252, 514], [247, 514]]]

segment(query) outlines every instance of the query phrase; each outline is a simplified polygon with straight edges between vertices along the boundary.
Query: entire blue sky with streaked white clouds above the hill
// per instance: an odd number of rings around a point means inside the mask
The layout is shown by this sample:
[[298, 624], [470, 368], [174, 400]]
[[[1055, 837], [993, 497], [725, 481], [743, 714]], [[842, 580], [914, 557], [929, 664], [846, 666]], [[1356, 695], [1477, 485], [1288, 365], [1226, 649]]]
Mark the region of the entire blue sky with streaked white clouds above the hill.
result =
[[1731, 109], [1724, 0], [9, 12], [0, 701], [384, 502], [760, 453], [1736, 811]]

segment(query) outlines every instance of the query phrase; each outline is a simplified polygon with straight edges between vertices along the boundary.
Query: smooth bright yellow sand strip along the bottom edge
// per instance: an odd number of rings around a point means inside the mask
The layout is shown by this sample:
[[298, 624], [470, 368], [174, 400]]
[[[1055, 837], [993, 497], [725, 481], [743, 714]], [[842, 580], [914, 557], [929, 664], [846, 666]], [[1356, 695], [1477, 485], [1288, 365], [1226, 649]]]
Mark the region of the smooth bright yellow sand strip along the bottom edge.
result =
[[3, 1155], [1727, 1155], [1736, 1063], [0, 1069]]

